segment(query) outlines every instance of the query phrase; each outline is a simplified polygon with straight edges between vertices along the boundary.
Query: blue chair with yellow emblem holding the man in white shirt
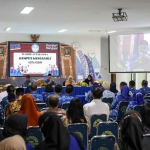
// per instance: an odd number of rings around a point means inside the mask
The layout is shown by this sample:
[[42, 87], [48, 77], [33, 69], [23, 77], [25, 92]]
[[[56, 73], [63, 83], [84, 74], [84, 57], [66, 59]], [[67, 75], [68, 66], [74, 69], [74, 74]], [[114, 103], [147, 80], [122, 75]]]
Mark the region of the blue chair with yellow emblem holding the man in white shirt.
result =
[[106, 114], [101, 114], [101, 115], [93, 115], [91, 117], [91, 131], [89, 138], [93, 137], [96, 135], [97, 127], [100, 122], [106, 122], [107, 121], [107, 115]]

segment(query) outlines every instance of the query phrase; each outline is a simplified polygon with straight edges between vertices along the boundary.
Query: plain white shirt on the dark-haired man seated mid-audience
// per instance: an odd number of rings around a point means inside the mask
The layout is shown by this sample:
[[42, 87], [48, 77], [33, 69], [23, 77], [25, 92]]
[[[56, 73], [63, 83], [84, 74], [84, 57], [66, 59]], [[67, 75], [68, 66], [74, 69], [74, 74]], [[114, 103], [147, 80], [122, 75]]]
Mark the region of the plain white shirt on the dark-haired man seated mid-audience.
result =
[[94, 99], [90, 103], [83, 106], [84, 115], [91, 119], [92, 115], [106, 114], [107, 120], [109, 118], [109, 106], [101, 101], [101, 99]]

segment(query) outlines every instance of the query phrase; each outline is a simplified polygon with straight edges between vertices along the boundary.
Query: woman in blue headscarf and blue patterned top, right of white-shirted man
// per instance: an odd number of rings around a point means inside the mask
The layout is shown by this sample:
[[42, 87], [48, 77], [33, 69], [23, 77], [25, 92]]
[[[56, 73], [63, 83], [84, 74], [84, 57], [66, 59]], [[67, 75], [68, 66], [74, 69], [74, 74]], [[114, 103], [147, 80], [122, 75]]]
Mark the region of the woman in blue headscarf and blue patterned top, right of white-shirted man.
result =
[[110, 116], [117, 115], [119, 102], [131, 100], [132, 97], [129, 95], [129, 87], [127, 85], [124, 85], [121, 89], [121, 95], [117, 95], [111, 104]]

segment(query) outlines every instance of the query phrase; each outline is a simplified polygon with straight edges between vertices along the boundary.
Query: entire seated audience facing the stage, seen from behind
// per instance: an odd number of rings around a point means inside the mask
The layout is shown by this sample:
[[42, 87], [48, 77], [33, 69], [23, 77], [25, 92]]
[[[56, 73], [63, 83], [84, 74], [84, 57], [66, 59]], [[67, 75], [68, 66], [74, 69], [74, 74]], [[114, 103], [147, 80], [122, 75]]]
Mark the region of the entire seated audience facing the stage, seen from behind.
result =
[[[72, 96], [74, 82], [71, 77], [66, 82], [65, 94], [62, 86], [48, 84], [45, 92], [37, 93], [37, 85], [30, 85], [30, 92], [24, 93], [24, 88], [15, 89], [7, 87], [8, 95], [0, 103], [0, 126], [4, 128], [0, 135], [0, 150], [32, 150], [30, 143], [24, 140], [28, 126], [39, 126], [43, 134], [43, 141], [36, 150], [86, 150], [88, 147], [82, 143], [77, 133], [67, 130], [69, 124], [87, 124], [88, 134], [91, 132], [91, 117], [105, 114], [107, 121], [116, 117], [120, 102], [127, 101], [126, 113], [119, 122], [119, 138], [116, 140], [114, 150], [147, 150], [150, 147], [144, 134], [150, 134], [150, 104], [145, 97], [150, 94], [148, 81], [143, 80], [140, 89], [135, 89], [135, 82], [120, 83], [120, 91], [115, 83], [104, 81], [93, 82], [89, 77], [91, 90], [86, 94], [84, 106], [79, 98]], [[87, 82], [89, 82], [87, 81]], [[52, 81], [51, 81], [52, 82]], [[110, 106], [103, 102], [104, 98], [111, 98]], [[37, 104], [46, 103], [44, 110], [39, 110]], [[63, 103], [69, 103], [66, 110], [62, 109]], [[139, 112], [134, 111], [134, 106], [141, 106]], [[135, 140], [136, 138], [136, 140]]]

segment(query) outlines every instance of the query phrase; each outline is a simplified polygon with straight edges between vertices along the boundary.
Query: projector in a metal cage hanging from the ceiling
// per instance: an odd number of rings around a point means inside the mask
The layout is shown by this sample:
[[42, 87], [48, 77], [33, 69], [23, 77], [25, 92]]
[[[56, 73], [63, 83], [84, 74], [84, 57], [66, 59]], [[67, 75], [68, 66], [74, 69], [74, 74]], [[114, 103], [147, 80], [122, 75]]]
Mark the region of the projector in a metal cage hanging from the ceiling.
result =
[[118, 13], [112, 13], [112, 18], [114, 20], [114, 22], [118, 22], [118, 21], [127, 21], [128, 16], [126, 14], [126, 12], [121, 12], [122, 9], [118, 9]]

